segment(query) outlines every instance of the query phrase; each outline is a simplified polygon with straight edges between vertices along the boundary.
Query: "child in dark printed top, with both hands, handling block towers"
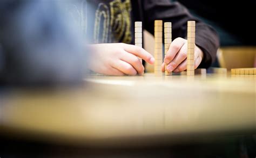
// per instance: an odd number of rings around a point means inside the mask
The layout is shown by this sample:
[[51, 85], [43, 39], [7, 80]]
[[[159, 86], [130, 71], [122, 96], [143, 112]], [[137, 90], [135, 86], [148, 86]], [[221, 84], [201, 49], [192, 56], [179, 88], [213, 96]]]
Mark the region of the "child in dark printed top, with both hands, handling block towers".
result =
[[[186, 70], [187, 21], [196, 21], [196, 68], [208, 68], [215, 60], [219, 39], [213, 28], [191, 16], [178, 2], [169, 0], [80, 0], [73, 17], [90, 37], [94, 50], [89, 68], [106, 75], [141, 75], [144, 66], [137, 56], [153, 64], [153, 56], [143, 48], [134, 46], [134, 21], [142, 21], [145, 30], [154, 33], [154, 20], [172, 22], [174, 39], [164, 64], [167, 70], [179, 73]], [[86, 12], [90, 5], [90, 14]], [[87, 9], [88, 10], [88, 9]], [[89, 30], [89, 31], [88, 31]]]

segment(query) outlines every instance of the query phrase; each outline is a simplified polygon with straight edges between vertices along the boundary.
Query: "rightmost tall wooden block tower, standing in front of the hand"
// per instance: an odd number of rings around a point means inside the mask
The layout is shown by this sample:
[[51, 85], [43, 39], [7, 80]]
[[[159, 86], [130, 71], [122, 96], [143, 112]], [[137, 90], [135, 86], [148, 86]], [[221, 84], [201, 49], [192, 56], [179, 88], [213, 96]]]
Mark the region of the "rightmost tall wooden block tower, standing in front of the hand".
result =
[[196, 21], [187, 21], [187, 76], [194, 76]]

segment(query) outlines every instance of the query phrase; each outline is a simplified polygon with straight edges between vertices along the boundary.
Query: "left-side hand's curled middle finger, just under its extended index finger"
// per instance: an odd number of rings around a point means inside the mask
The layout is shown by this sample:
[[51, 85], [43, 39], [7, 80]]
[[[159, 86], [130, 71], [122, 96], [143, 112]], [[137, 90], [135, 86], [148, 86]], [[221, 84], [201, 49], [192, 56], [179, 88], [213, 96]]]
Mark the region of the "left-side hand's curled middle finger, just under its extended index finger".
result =
[[137, 56], [128, 52], [124, 52], [120, 59], [131, 64], [132, 67], [136, 69], [139, 75], [144, 74], [144, 66], [142, 62], [139, 61], [139, 58]]

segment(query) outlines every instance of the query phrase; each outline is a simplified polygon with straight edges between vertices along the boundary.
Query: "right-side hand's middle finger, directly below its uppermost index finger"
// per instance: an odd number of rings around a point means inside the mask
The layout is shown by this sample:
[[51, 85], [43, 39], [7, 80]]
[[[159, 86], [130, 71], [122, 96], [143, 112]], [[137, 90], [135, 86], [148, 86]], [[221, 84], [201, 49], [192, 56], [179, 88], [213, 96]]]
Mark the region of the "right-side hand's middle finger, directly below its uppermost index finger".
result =
[[172, 72], [174, 69], [176, 69], [181, 62], [183, 62], [187, 58], [187, 44], [184, 44], [175, 58], [167, 65], [167, 70], [169, 72]]

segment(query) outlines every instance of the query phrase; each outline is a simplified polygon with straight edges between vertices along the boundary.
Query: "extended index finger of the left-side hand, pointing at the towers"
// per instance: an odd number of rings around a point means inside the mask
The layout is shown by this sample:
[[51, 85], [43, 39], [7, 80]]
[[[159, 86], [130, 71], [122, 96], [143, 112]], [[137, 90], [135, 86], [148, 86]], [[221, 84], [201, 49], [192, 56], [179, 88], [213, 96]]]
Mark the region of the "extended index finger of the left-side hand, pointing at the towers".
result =
[[123, 46], [126, 52], [134, 54], [150, 64], [154, 63], [154, 57], [149, 52], [145, 51], [145, 49], [143, 49], [142, 47], [128, 44], [123, 44]]

